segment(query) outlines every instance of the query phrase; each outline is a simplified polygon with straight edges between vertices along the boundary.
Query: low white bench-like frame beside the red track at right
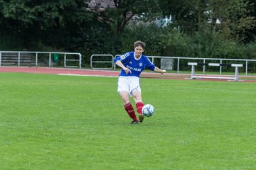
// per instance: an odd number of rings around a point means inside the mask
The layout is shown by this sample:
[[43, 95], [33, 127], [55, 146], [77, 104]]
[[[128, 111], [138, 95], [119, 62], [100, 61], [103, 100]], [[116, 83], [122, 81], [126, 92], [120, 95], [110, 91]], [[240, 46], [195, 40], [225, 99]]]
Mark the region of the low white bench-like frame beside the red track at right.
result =
[[191, 66], [191, 79], [228, 79], [233, 81], [238, 81], [238, 67], [242, 67], [242, 64], [220, 64], [220, 63], [203, 63], [203, 65], [208, 66], [217, 66], [220, 67], [222, 65], [230, 65], [231, 67], [235, 67], [235, 76], [234, 77], [220, 77], [220, 76], [203, 76], [195, 74], [195, 66], [198, 65], [197, 62], [188, 62], [188, 65]]

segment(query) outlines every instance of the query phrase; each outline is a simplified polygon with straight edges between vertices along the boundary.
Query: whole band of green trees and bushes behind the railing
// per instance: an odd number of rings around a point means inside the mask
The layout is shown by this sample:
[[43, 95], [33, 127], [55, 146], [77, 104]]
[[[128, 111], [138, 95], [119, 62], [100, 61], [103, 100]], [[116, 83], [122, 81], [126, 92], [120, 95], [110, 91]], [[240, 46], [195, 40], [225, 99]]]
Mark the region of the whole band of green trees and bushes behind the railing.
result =
[[[144, 40], [149, 55], [246, 57], [240, 52], [255, 45], [253, 0], [112, 2], [114, 8], [102, 10], [89, 0], [0, 0], [0, 50], [75, 51], [88, 58], [121, 54]], [[155, 18], [170, 15], [169, 26], [156, 26]]]

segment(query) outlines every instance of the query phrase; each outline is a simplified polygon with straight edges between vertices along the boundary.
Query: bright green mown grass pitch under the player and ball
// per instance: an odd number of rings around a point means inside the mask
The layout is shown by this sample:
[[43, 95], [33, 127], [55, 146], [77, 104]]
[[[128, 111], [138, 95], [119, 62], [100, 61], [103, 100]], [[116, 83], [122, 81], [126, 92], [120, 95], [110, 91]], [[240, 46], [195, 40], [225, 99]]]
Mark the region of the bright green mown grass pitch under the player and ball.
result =
[[141, 86], [130, 125], [117, 78], [0, 73], [0, 169], [256, 169], [255, 83]]

